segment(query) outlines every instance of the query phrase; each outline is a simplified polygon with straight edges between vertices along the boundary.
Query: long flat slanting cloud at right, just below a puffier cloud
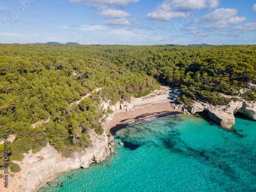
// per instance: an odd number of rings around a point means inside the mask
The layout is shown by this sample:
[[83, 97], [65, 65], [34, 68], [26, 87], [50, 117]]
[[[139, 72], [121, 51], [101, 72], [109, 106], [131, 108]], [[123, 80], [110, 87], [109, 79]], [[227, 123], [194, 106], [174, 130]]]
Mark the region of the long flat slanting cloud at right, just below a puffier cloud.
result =
[[220, 20], [219, 22], [207, 24], [205, 26], [202, 26], [204, 28], [211, 28], [211, 29], [221, 29], [229, 27], [232, 24], [238, 24], [241, 22], [244, 22], [246, 20], [246, 17], [231, 17], [230, 19], [226, 20]]

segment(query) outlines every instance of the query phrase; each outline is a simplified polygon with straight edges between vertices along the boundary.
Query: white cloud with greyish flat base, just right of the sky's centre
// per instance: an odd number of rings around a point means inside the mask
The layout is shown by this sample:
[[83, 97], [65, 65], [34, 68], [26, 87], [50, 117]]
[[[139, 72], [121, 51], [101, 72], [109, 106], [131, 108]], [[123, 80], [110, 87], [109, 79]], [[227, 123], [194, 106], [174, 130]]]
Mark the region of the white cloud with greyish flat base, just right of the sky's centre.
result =
[[168, 22], [173, 17], [186, 17], [187, 13], [184, 12], [172, 12], [172, 11], [153, 11], [148, 13], [146, 18], [153, 20], [155, 23]]

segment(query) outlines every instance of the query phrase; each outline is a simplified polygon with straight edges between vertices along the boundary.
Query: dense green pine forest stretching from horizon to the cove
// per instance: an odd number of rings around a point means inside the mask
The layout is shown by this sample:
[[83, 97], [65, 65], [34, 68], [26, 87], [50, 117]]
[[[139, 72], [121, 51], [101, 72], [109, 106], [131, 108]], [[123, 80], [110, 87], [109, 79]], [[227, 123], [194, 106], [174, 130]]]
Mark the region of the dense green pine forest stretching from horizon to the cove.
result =
[[[17, 136], [10, 161], [48, 140], [67, 157], [91, 145], [89, 129], [103, 133], [102, 117], [112, 111], [102, 101], [129, 101], [161, 83], [181, 89], [179, 103], [227, 104], [218, 93], [238, 95], [256, 82], [256, 46], [0, 45], [0, 73], [0, 139]], [[256, 100], [255, 91], [243, 96]], [[0, 166], [3, 157], [2, 144]]]

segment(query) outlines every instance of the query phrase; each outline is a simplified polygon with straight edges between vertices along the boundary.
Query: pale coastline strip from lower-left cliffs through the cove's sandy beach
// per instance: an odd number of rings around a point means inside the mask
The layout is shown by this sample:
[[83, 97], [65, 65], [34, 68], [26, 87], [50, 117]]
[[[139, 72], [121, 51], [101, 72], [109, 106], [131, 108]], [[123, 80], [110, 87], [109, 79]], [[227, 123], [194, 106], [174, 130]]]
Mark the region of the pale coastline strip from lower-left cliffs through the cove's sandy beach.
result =
[[[14, 174], [14, 177], [10, 177], [10, 188], [5, 191], [37, 191], [63, 172], [80, 167], [88, 168], [95, 161], [101, 162], [106, 156], [106, 149], [108, 149], [106, 135], [109, 135], [112, 128], [181, 112], [180, 109], [174, 109], [172, 106], [172, 102], [179, 94], [177, 89], [161, 86], [160, 90], [155, 90], [145, 97], [132, 98], [131, 107], [126, 110], [122, 109], [119, 103], [119, 108], [116, 108], [117, 110], [106, 118], [106, 122], [102, 123], [105, 133], [98, 136], [94, 131], [91, 132], [93, 147], [88, 147], [84, 152], [76, 153], [69, 158], [63, 158], [61, 153], [49, 144], [36, 154], [31, 152], [25, 154], [22, 162], [15, 161], [22, 170], [19, 173], [11, 173]], [[0, 184], [0, 191], [4, 190], [2, 187], [3, 185]]]

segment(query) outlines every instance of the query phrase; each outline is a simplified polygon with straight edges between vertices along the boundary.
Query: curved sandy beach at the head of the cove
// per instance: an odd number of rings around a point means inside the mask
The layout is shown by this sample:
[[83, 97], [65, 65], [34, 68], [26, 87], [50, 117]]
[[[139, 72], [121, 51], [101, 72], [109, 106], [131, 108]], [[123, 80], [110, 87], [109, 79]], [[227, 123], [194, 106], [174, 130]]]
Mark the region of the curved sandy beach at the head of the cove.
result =
[[110, 130], [127, 123], [140, 121], [147, 118], [165, 115], [168, 113], [181, 112], [172, 106], [172, 102], [180, 94], [178, 89], [161, 86], [151, 94], [142, 98], [132, 98], [133, 108], [131, 111], [118, 111], [109, 118], [103, 126], [108, 135]]

